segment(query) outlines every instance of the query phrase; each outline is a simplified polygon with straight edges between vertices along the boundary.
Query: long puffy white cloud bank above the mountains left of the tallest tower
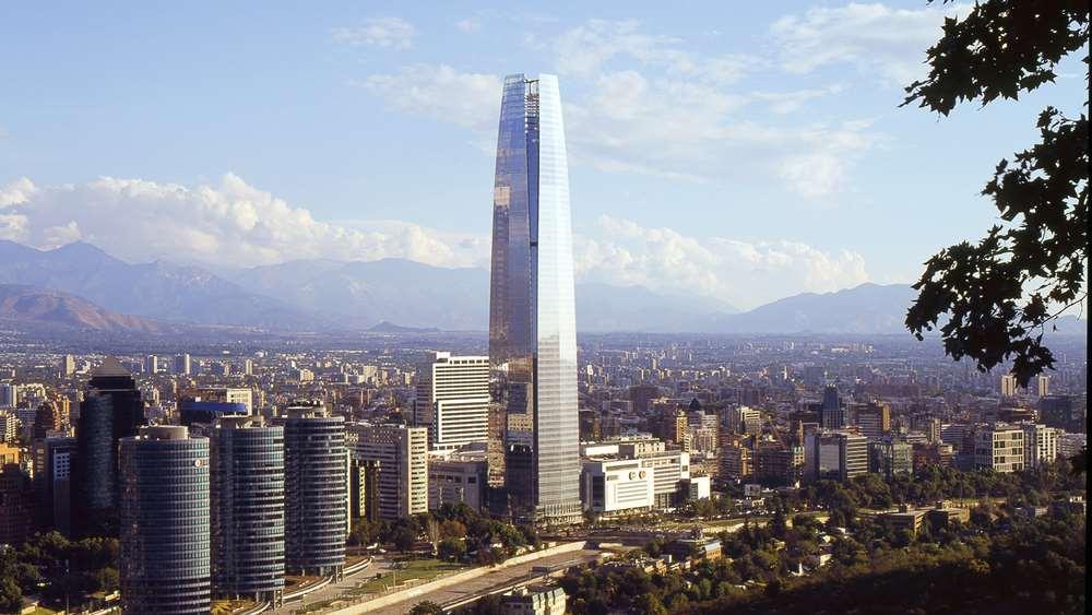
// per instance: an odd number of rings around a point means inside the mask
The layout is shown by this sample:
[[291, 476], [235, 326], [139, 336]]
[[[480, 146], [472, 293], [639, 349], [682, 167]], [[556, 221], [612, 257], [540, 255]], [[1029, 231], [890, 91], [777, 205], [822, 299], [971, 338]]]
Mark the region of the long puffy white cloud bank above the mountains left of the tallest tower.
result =
[[0, 188], [0, 237], [48, 249], [78, 239], [143, 262], [166, 259], [230, 265], [294, 259], [408, 258], [480, 265], [482, 247], [411, 223], [314, 220], [302, 208], [227, 174], [216, 185], [182, 186], [103, 177], [83, 185]]

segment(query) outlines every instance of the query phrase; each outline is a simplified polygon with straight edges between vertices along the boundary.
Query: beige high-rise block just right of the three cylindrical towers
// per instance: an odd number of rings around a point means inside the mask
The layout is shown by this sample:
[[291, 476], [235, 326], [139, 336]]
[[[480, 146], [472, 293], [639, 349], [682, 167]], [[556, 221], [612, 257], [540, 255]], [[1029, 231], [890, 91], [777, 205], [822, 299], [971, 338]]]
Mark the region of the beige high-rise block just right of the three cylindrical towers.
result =
[[424, 427], [358, 423], [349, 426], [353, 454], [379, 462], [379, 518], [428, 511], [428, 431]]

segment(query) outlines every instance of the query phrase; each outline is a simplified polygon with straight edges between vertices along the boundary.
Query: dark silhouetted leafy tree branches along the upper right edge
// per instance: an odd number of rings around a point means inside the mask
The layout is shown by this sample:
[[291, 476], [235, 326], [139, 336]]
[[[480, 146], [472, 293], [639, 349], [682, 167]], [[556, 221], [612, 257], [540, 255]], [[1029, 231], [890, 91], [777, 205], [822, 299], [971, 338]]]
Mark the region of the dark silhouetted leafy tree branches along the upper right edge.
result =
[[[965, 19], [945, 20], [929, 75], [906, 87], [903, 105], [947, 116], [961, 102], [1014, 99], [1053, 82], [1088, 36], [1088, 0], [984, 0]], [[985, 371], [1011, 358], [1021, 386], [1054, 365], [1046, 327], [1088, 296], [1088, 118], [1051, 106], [1037, 127], [1041, 142], [998, 163], [982, 191], [1004, 223], [977, 244], [934, 255], [906, 315], [918, 339], [939, 326], [954, 359], [971, 357]]]

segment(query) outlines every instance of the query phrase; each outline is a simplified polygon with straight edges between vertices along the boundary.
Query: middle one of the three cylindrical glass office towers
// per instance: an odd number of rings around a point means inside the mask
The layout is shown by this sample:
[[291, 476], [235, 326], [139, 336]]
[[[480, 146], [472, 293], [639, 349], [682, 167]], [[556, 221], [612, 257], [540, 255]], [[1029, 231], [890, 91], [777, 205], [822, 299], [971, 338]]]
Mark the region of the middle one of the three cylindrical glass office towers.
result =
[[275, 604], [284, 592], [284, 428], [222, 418], [209, 440], [213, 588]]

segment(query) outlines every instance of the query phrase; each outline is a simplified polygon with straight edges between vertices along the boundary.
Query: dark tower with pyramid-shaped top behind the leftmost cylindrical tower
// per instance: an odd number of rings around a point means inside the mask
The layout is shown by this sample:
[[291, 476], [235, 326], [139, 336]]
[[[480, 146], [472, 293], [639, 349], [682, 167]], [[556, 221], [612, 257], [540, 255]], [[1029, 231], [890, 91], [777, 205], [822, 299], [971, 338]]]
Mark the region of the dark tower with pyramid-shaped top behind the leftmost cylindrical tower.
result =
[[87, 383], [76, 428], [73, 530], [78, 535], [117, 532], [118, 441], [136, 435], [144, 403], [136, 383], [115, 357], [107, 357]]

